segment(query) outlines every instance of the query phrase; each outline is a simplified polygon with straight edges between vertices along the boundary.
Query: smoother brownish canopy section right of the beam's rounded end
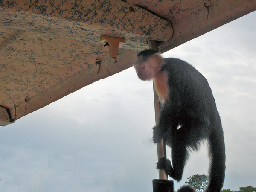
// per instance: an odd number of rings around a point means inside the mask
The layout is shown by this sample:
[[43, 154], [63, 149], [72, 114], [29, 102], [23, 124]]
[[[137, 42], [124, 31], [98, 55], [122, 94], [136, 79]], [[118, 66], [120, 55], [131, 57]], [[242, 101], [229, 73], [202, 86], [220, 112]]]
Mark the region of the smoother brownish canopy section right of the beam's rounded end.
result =
[[256, 10], [256, 0], [127, 0], [127, 2], [143, 7], [172, 23], [172, 38], [159, 44], [162, 53]]

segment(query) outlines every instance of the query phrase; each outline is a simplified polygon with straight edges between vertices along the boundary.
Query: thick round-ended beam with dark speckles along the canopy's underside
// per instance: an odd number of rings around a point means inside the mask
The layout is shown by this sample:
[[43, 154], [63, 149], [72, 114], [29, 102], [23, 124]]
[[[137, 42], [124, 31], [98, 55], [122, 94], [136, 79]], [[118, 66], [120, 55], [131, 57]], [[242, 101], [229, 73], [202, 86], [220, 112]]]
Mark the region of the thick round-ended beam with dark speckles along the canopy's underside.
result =
[[108, 35], [141, 49], [148, 40], [172, 37], [170, 22], [120, 0], [3, 0], [2, 8], [2, 26], [95, 44]]

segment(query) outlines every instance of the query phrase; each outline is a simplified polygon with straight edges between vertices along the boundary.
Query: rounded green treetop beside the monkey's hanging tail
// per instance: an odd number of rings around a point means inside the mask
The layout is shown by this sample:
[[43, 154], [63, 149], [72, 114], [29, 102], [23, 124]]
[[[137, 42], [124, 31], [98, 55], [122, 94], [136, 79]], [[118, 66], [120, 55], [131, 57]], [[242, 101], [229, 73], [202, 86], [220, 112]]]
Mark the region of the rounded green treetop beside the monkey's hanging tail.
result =
[[205, 174], [190, 176], [188, 180], [185, 183], [193, 186], [197, 192], [203, 192], [208, 184], [207, 175]]

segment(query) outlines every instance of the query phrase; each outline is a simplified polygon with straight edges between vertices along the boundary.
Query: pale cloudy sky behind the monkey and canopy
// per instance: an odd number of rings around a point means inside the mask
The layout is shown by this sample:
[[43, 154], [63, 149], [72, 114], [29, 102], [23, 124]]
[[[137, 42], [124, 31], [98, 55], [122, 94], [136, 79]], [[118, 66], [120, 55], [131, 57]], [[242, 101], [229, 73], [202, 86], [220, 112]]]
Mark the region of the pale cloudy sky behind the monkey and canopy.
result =
[[[256, 187], [256, 12], [163, 54], [209, 82], [226, 145], [223, 189]], [[158, 178], [151, 81], [129, 68], [0, 127], [1, 192], [151, 192]], [[167, 148], [170, 157], [170, 148]], [[183, 179], [207, 174], [206, 144]]]

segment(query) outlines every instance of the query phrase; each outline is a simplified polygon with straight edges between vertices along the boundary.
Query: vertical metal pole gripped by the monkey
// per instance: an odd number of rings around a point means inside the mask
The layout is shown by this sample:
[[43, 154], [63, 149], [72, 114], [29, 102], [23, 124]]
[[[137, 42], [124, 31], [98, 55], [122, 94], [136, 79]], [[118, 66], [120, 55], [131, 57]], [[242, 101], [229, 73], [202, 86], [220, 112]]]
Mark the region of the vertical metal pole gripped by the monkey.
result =
[[[158, 52], [157, 41], [148, 41], [148, 47], [149, 49], [153, 49]], [[156, 125], [157, 125], [159, 122], [159, 116], [160, 116], [160, 104], [158, 101], [157, 92], [154, 88], [154, 82], [153, 82], [153, 89], [154, 89], [155, 119], [156, 119]], [[157, 157], [158, 157], [158, 160], [162, 157], [166, 157], [166, 144], [163, 139], [159, 143], [157, 143]], [[168, 179], [168, 175], [163, 169], [160, 169], [158, 173], [159, 173], [159, 179], [166, 179], [166, 180]]]

